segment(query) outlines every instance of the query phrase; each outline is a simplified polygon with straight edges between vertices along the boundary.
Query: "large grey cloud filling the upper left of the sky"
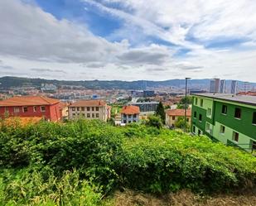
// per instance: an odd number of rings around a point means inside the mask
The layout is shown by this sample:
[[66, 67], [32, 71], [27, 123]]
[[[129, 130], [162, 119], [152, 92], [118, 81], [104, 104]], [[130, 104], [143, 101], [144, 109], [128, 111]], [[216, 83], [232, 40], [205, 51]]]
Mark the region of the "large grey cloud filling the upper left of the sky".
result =
[[0, 1], [0, 19], [0, 55], [80, 63], [107, 60], [122, 47], [94, 36], [85, 26], [57, 20], [40, 7], [16, 0]]

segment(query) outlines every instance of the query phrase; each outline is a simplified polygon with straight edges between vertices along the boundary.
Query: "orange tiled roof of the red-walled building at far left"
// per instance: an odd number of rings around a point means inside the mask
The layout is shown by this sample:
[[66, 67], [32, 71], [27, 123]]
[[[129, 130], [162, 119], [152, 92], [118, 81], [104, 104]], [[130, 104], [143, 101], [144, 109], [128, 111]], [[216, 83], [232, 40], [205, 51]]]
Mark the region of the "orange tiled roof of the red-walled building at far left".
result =
[[59, 102], [58, 99], [43, 96], [17, 96], [0, 101], [0, 107], [51, 105]]

